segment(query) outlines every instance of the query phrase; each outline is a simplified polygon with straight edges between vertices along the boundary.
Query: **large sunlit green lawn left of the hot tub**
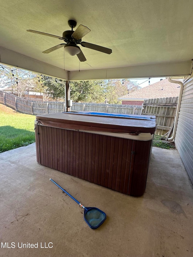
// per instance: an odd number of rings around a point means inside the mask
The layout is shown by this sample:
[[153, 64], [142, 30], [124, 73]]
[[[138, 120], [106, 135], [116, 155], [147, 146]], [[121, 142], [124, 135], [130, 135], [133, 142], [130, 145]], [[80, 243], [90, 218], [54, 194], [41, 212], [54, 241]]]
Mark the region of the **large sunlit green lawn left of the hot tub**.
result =
[[35, 115], [0, 104], [0, 153], [35, 142]]

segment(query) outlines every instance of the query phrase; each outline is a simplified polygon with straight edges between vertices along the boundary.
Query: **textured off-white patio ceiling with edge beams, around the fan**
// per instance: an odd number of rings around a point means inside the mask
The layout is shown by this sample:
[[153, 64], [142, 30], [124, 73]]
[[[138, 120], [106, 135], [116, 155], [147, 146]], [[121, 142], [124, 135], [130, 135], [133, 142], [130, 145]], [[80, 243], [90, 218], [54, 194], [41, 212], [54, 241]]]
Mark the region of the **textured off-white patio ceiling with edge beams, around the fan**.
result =
[[[55, 74], [55, 77], [62, 77], [59, 74], [64, 73], [65, 68], [66, 71], [78, 71], [71, 73], [75, 74], [75, 79], [86, 79], [87, 76], [99, 78], [100, 74], [101, 78], [108, 77], [100, 72], [89, 75], [86, 71], [104, 69], [106, 72], [109, 69], [111, 71], [111, 68], [116, 68], [116, 71], [118, 69], [120, 77], [187, 75], [191, 72], [192, 1], [1, 0], [0, 3], [2, 63], [22, 66], [33, 71], [39, 69], [40, 73], [53, 76]], [[81, 47], [87, 58], [85, 62], [79, 62], [77, 56], [67, 53], [64, 58], [63, 48], [43, 54], [44, 50], [62, 43], [61, 40], [26, 31], [37, 30], [62, 36], [63, 31], [70, 30], [69, 19], [76, 20], [77, 27], [83, 24], [91, 30], [84, 36], [83, 41], [111, 48], [112, 54]], [[181, 66], [177, 70], [169, 70], [173, 74], [166, 74], [167, 64], [170, 63]], [[162, 64], [160, 73], [159, 68], [157, 73], [151, 73], [152, 67], [159, 67], [152, 64]], [[133, 70], [139, 73], [144, 69], [144, 74], [142, 72], [136, 75], [136, 72], [130, 72], [129, 67], [132, 66], [136, 66]], [[51, 68], [53, 72], [50, 72]], [[182, 70], [181, 74], [179, 69]], [[113, 73], [114, 69], [109, 77], [113, 77]], [[64, 73], [65, 76], [67, 73]], [[119, 74], [114, 77], [119, 77]]]

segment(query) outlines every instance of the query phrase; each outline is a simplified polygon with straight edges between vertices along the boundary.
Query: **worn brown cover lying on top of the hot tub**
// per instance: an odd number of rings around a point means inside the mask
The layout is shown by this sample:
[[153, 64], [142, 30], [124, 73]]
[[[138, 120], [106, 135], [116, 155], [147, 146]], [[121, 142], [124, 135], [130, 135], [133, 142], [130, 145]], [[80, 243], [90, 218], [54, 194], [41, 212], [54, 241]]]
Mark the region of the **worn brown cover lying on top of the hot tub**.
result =
[[[39, 124], [73, 130], [90, 130], [119, 133], [155, 133], [155, 116], [112, 114], [113, 116], [90, 114], [89, 112], [64, 112], [36, 115]], [[127, 117], [124, 117], [127, 116]]]

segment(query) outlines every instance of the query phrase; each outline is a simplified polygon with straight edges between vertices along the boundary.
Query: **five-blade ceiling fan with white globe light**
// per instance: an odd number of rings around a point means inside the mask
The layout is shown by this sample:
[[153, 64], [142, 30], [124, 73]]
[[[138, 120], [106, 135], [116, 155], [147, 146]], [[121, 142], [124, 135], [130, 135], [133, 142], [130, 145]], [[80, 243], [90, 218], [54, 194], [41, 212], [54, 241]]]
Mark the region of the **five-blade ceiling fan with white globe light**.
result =
[[62, 43], [59, 45], [55, 45], [54, 47], [51, 47], [43, 51], [44, 54], [48, 54], [56, 49], [64, 47], [65, 52], [68, 52], [70, 55], [77, 55], [80, 61], [86, 61], [87, 59], [85, 58], [83, 52], [81, 51], [78, 45], [81, 45], [83, 47], [90, 48], [99, 52], [103, 52], [109, 55], [112, 53], [112, 49], [109, 49], [100, 45], [94, 45], [88, 42], [82, 42], [82, 37], [84, 37], [90, 32], [90, 29], [87, 28], [86, 26], [79, 25], [78, 28], [75, 31], [73, 31], [73, 28], [76, 27], [77, 22], [75, 20], [68, 20], [68, 25], [71, 27], [71, 30], [64, 31], [62, 34], [62, 37], [47, 34], [36, 30], [27, 30], [27, 31], [45, 35], [45, 36], [55, 37], [58, 39], [62, 39], [66, 42], [66, 44]]

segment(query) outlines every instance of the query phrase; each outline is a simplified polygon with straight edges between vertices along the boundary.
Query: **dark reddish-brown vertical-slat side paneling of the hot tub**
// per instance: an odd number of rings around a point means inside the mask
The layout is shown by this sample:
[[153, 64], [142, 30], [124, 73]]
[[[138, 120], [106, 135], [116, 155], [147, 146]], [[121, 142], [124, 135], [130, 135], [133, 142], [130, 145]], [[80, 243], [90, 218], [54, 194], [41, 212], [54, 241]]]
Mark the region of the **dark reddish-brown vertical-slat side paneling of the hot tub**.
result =
[[40, 164], [132, 196], [144, 193], [150, 146], [151, 140], [36, 128]]

